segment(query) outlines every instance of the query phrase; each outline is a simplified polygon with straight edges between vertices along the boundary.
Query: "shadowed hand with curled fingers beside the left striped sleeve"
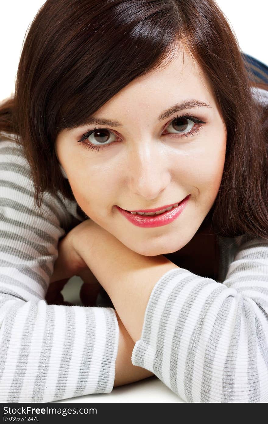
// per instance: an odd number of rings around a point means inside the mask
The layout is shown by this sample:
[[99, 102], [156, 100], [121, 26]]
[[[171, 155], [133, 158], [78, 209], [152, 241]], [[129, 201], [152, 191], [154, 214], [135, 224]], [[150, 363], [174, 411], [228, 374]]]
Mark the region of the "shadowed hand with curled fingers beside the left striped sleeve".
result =
[[[45, 297], [48, 304], [72, 306], [71, 303], [64, 301], [61, 290], [63, 290], [69, 279], [76, 275], [84, 282], [80, 289], [80, 299], [83, 305], [95, 306], [101, 286], [94, 274], [88, 268], [88, 265], [83, 261], [82, 257], [77, 254], [77, 251], [72, 244], [77, 233], [81, 234], [81, 228], [78, 227], [82, 224], [83, 222], [74, 227], [58, 243], [58, 258], [55, 261], [54, 270], [50, 277], [50, 285]], [[87, 228], [88, 224], [86, 225]], [[84, 231], [84, 229], [85, 224], [83, 225], [82, 231]]]

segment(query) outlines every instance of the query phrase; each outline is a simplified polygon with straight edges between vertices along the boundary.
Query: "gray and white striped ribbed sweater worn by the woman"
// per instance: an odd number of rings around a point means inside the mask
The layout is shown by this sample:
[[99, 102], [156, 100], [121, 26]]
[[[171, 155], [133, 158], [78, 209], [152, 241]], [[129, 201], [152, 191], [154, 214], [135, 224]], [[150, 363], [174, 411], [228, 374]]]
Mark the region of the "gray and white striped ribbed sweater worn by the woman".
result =
[[[44, 300], [58, 240], [84, 218], [33, 184], [21, 148], [0, 141], [0, 401], [52, 402], [113, 389], [111, 307]], [[187, 402], [268, 402], [268, 240], [219, 237], [219, 282], [183, 268], [152, 290], [132, 354]]]

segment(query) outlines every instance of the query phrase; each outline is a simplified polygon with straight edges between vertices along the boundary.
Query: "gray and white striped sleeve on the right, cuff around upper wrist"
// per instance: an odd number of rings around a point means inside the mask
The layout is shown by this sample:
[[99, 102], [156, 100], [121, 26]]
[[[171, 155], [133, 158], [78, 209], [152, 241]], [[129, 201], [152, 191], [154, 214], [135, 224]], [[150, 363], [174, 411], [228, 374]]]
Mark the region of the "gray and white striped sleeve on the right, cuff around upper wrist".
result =
[[165, 273], [132, 363], [186, 402], [268, 402], [268, 239], [240, 236], [223, 283]]

